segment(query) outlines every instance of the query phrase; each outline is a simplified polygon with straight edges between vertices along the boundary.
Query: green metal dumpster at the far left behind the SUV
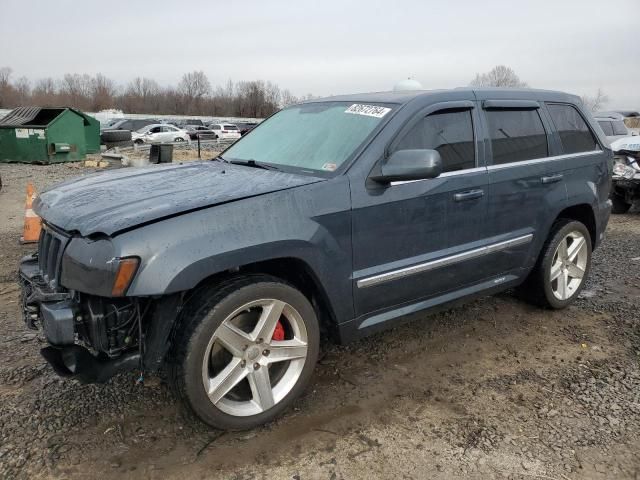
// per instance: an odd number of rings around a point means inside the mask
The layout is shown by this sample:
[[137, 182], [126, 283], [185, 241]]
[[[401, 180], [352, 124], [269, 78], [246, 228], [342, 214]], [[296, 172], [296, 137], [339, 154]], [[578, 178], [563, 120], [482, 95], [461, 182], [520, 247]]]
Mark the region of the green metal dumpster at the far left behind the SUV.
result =
[[0, 162], [72, 162], [99, 151], [100, 123], [73, 108], [18, 107], [0, 119]]

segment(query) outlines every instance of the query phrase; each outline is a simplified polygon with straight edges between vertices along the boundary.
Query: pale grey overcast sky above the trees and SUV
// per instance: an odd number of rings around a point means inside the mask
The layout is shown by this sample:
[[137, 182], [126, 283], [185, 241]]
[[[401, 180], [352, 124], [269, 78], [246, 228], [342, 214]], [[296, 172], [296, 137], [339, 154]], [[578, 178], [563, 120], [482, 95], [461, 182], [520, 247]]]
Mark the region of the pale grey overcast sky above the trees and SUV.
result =
[[532, 87], [640, 109], [640, 0], [0, 0], [0, 66], [32, 80], [103, 73], [296, 95], [467, 85], [497, 64]]

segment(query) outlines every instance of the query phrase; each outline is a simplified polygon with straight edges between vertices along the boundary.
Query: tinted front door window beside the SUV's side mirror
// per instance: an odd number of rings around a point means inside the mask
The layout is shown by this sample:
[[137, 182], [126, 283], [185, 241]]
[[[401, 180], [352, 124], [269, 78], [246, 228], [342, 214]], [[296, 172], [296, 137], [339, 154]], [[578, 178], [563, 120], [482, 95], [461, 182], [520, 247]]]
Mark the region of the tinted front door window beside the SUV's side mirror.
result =
[[443, 110], [426, 116], [407, 133], [395, 150], [437, 150], [443, 172], [476, 166], [470, 110]]

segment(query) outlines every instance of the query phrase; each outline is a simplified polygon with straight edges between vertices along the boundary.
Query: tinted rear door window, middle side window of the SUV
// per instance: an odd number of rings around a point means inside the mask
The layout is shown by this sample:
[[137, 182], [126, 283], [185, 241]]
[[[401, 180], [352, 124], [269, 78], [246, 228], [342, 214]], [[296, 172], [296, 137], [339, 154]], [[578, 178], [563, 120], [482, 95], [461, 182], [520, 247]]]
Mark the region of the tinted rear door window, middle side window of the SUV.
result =
[[522, 162], [549, 156], [547, 134], [534, 110], [486, 110], [493, 164]]

